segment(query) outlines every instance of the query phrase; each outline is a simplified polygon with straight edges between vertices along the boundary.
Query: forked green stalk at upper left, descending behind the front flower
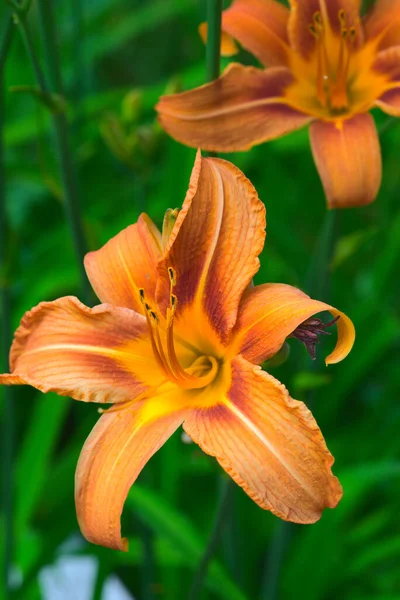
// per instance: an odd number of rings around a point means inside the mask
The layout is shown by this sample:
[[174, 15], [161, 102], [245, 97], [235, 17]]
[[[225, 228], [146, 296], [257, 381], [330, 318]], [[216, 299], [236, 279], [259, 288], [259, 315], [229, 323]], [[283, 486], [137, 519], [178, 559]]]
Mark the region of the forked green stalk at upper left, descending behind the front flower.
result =
[[[38, 1], [39, 15], [41, 20], [44, 51], [49, 73], [51, 86], [49, 87], [37, 58], [35, 46], [26, 11], [16, 10], [15, 16], [25, 43], [25, 47], [32, 67], [35, 73], [37, 83], [44, 94], [57, 94], [63, 97], [64, 89], [62, 84], [61, 69], [59, 65], [59, 54], [56, 43], [53, 6], [48, 0]], [[83, 300], [89, 302], [92, 299], [92, 291], [83, 266], [83, 258], [87, 252], [87, 244], [83, 229], [82, 217], [78, 201], [78, 186], [75, 174], [75, 168], [72, 161], [71, 151], [68, 140], [68, 124], [64, 111], [52, 112], [55, 144], [58, 155], [61, 182], [63, 187], [64, 209], [71, 233], [71, 238], [75, 250], [78, 264], [78, 270], [81, 280]]]

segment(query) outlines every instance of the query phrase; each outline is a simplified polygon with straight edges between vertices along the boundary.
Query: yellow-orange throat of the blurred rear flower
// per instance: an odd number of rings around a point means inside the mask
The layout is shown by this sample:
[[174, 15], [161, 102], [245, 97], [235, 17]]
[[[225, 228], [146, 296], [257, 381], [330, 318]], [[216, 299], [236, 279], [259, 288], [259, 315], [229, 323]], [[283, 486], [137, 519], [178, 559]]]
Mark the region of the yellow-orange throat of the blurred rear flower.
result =
[[320, 0], [320, 8], [308, 25], [313, 48], [306, 57], [298, 51], [290, 53], [294, 81], [284, 97], [296, 110], [339, 124], [370, 110], [390, 82], [374, 68], [379, 38], [363, 43], [343, 9], [335, 24], [324, 0]]

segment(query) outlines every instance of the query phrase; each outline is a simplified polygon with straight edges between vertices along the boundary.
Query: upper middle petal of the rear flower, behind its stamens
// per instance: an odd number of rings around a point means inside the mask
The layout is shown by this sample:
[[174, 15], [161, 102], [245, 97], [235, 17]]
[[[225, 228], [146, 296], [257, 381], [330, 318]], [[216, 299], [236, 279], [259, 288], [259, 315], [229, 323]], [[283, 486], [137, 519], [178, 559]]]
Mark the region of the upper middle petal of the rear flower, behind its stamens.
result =
[[358, 47], [363, 43], [361, 0], [289, 0], [289, 4], [289, 40], [292, 48], [303, 56], [307, 57], [315, 49], [315, 38], [310, 34], [309, 26], [313, 24], [316, 12], [321, 13], [328, 44], [330, 35], [340, 34], [339, 12], [342, 10], [346, 27], [354, 27], [356, 31], [353, 44]]

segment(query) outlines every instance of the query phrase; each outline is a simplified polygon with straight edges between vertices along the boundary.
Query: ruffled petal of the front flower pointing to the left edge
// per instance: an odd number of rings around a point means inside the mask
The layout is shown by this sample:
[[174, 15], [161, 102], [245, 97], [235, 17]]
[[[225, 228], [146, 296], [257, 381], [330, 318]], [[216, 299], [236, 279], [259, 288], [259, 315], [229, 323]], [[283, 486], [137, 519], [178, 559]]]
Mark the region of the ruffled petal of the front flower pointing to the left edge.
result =
[[144, 317], [129, 309], [87, 308], [72, 296], [42, 302], [22, 318], [10, 352], [11, 375], [0, 375], [0, 383], [25, 383], [84, 402], [131, 400], [146, 389], [132, 363], [137, 371], [149, 369], [149, 359], [132, 348], [147, 335]]

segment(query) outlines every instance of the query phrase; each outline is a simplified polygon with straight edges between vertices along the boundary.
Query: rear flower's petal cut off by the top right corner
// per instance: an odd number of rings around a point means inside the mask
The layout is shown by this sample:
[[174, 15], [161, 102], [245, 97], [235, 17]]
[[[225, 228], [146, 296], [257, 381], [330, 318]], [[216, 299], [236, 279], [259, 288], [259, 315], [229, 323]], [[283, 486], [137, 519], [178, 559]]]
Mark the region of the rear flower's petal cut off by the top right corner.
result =
[[368, 40], [384, 50], [400, 45], [400, 0], [377, 0], [365, 19]]

